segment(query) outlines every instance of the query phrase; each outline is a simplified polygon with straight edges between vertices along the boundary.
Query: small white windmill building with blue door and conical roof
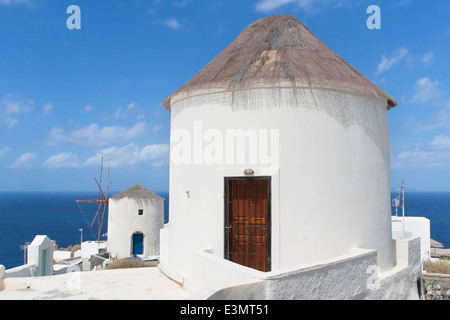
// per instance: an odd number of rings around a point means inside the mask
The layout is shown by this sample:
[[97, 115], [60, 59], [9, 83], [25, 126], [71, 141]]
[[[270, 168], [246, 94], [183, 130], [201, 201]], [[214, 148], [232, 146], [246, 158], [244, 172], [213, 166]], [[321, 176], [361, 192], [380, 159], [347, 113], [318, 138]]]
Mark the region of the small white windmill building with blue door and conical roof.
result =
[[111, 197], [108, 246], [113, 258], [159, 256], [159, 230], [164, 227], [164, 199], [136, 184]]

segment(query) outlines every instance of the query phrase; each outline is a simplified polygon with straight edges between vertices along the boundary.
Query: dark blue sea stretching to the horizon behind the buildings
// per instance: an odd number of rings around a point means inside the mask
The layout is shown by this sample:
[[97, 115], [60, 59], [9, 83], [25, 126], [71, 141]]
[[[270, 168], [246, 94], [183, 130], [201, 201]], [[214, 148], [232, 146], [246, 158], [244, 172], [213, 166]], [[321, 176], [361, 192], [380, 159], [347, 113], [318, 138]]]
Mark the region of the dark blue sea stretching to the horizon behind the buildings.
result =
[[[158, 194], [165, 199], [167, 223], [169, 194]], [[77, 202], [86, 199], [98, 199], [98, 192], [0, 192], [0, 264], [6, 269], [24, 264], [23, 248], [36, 235], [47, 235], [60, 248], [79, 244], [81, 237], [97, 240], [97, 224], [91, 224], [98, 205]], [[450, 192], [406, 192], [405, 214], [430, 219], [431, 238], [450, 248]], [[106, 223], [103, 228], [101, 240]]]

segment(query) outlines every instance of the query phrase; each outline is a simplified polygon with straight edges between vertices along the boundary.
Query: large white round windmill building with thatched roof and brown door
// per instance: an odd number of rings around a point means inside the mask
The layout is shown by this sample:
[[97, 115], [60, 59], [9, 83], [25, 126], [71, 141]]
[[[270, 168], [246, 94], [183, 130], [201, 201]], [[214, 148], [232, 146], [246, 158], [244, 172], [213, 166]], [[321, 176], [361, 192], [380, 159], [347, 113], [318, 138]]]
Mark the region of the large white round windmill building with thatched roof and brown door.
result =
[[297, 19], [251, 24], [163, 104], [168, 276], [195, 290], [369, 251], [377, 270], [393, 269], [387, 112], [397, 103]]

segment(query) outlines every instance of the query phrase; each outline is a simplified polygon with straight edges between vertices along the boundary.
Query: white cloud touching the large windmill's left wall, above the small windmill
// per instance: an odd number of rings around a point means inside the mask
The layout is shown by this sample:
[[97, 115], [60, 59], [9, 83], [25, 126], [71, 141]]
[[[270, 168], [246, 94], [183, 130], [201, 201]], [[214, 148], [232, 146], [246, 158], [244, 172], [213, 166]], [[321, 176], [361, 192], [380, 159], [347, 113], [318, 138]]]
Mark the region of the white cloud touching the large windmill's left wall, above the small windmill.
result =
[[84, 166], [98, 166], [103, 157], [104, 163], [111, 167], [133, 166], [148, 162], [153, 166], [161, 166], [162, 158], [168, 156], [169, 145], [147, 145], [140, 149], [136, 144], [130, 143], [125, 147], [110, 147], [101, 150], [93, 157], [87, 159]]

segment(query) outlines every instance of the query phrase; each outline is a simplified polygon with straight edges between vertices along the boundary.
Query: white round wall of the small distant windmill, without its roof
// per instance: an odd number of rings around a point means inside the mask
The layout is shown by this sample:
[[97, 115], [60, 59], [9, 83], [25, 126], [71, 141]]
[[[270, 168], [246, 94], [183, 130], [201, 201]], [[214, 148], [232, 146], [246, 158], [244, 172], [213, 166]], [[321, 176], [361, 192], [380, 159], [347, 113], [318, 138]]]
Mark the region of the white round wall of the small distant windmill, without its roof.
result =
[[[143, 214], [139, 215], [139, 210]], [[110, 199], [108, 245], [113, 257], [132, 255], [134, 233], [144, 235], [144, 257], [159, 255], [159, 230], [164, 227], [164, 201], [134, 198]]]

